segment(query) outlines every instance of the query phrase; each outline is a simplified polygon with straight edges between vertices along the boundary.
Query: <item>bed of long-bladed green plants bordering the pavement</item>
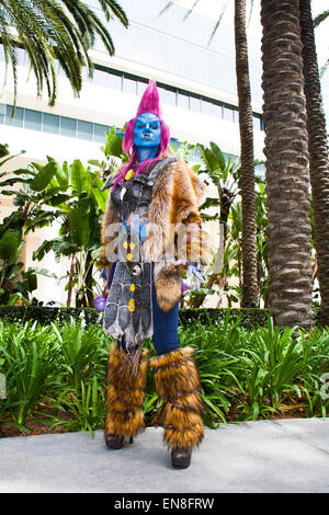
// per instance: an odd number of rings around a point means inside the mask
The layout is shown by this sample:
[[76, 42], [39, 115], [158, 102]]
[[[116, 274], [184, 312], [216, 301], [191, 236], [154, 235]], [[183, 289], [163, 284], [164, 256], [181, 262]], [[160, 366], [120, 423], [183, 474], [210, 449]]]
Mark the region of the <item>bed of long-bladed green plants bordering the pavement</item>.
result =
[[[204, 401], [204, 423], [218, 424], [280, 416], [327, 416], [329, 400], [321, 394], [329, 373], [329, 331], [315, 328], [243, 329], [241, 319], [220, 323], [208, 319], [184, 330], [182, 346], [195, 348]], [[76, 322], [23, 325], [0, 321], [0, 371], [7, 399], [0, 399], [0, 435], [33, 431], [103, 428], [109, 337], [99, 325]], [[150, 340], [145, 344], [155, 355]], [[146, 422], [159, 411], [151, 370], [145, 399]], [[32, 430], [31, 430], [32, 427]], [[3, 431], [2, 431], [3, 433]], [[5, 433], [5, 432], [4, 432]], [[8, 434], [8, 432], [7, 432]], [[16, 434], [16, 433], [15, 433]]]

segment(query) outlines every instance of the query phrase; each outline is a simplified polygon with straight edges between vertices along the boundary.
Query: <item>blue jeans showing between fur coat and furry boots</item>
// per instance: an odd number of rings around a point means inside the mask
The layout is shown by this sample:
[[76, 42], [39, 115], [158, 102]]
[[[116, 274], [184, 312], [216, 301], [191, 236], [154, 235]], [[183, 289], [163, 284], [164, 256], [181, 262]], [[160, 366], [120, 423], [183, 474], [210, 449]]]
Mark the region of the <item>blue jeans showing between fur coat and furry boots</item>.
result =
[[[115, 270], [115, 263], [113, 263], [109, 287], [111, 286]], [[179, 301], [177, 305], [166, 313], [162, 311], [157, 302], [155, 281], [152, 281], [152, 314], [154, 314], [154, 336], [152, 342], [155, 345], [156, 353], [168, 354], [180, 347], [178, 337], [178, 320], [179, 320]]]

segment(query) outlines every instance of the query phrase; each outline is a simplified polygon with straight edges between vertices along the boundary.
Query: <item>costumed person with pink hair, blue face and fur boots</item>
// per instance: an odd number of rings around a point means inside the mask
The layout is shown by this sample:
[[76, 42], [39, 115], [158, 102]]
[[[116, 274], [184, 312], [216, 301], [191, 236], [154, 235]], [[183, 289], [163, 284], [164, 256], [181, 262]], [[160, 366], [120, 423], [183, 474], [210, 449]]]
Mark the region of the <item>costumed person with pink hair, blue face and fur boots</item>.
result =
[[[202, 399], [193, 350], [180, 347], [178, 316], [182, 270], [197, 274], [195, 266], [208, 263], [198, 214], [205, 184], [184, 161], [168, 158], [169, 140], [151, 81], [126, 126], [128, 163], [103, 187], [111, 187], [99, 262], [109, 271], [103, 329], [117, 342], [107, 363], [104, 436], [107, 447], [122, 448], [143, 431], [149, 363], [172, 466], [189, 467], [203, 438]], [[150, 336], [157, 356], [147, 360], [143, 342]]]

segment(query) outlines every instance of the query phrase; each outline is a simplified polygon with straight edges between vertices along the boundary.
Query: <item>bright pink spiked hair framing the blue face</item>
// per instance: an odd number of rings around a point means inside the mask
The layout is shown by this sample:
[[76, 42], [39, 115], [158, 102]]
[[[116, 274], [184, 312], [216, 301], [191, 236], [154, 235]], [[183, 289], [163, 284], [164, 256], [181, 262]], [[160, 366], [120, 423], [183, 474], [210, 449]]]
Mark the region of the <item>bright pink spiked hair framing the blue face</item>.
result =
[[115, 188], [116, 184], [123, 180], [127, 171], [134, 165], [138, 163], [138, 152], [134, 145], [134, 130], [135, 130], [135, 123], [138, 116], [143, 113], [152, 113], [158, 116], [161, 125], [161, 140], [158, 149], [158, 153], [152, 159], [147, 159], [143, 163], [140, 163], [136, 170], [136, 175], [144, 170], [148, 164], [155, 161], [159, 161], [162, 159], [163, 154], [167, 152], [168, 144], [170, 140], [170, 131], [168, 125], [161, 118], [161, 107], [160, 107], [160, 99], [159, 92], [157, 88], [157, 83], [155, 80], [151, 80], [148, 84], [147, 89], [145, 90], [140, 103], [137, 108], [136, 116], [132, 118], [126, 126], [125, 136], [123, 140], [123, 149], [128, 156], [128, 163], [124, 167], [122, 172], [118, 174], [117, 179], [113, 184], [113, 190]]

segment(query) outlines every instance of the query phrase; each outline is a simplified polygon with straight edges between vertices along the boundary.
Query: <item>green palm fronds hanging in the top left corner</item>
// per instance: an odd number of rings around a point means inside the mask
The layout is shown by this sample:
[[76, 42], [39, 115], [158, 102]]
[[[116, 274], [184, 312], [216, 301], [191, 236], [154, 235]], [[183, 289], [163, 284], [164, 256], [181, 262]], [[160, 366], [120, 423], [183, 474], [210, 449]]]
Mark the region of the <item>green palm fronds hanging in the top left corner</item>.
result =
[[[124, 26], [128, 20], [116, 0], [99, 0], [107, 22], [117, 19]], [[26, 50], [37, 94], [46, 84], [48, 101], [56, 100], [56, 59], [69, 79], [75, 94], [82, 85], [81, 67], [92, 77], [93, 64], [88, 52], [99, 36], [110, 55], [114, 44], [106, 26], [86, 2], [75, 0], [0, 0], [0, 41], [7, 69], [11, 67], [16, 99], [18, 55]]]

